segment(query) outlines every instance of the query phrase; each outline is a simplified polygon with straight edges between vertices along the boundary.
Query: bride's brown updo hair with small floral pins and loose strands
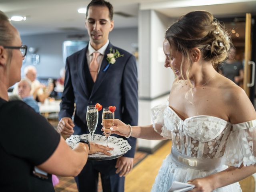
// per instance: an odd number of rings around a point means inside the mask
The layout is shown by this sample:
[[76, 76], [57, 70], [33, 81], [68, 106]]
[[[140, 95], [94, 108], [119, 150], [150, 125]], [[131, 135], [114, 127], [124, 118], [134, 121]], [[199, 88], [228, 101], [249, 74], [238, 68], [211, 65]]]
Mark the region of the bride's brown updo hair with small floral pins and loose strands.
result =
[[190, 49], [198, 48], [202, 58], [216, 67], [218, 63], [226, 59], [230, 48], [228, 33], [218, 20], [206, 11], [194, 11], [180, 17], [166, 30], [165, 37], [171, 49], [182, 53], [181, 71], [184, 62], [188, 62], [186, 78], [181, 72], [182, 78], [188, 80], [192, 66], [192, 60], [189, 58]]

